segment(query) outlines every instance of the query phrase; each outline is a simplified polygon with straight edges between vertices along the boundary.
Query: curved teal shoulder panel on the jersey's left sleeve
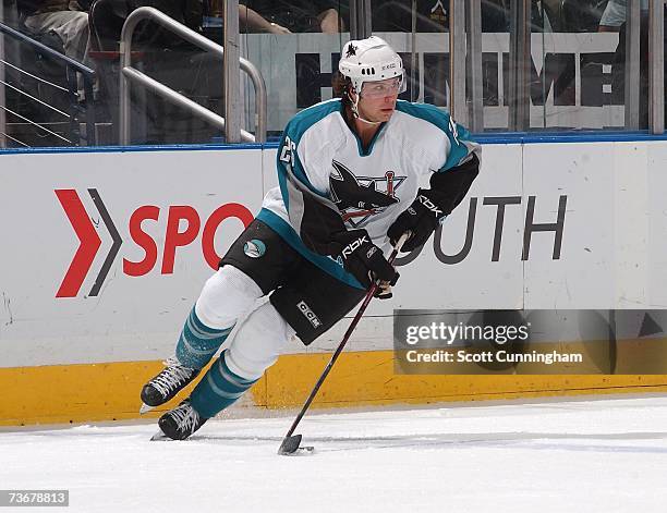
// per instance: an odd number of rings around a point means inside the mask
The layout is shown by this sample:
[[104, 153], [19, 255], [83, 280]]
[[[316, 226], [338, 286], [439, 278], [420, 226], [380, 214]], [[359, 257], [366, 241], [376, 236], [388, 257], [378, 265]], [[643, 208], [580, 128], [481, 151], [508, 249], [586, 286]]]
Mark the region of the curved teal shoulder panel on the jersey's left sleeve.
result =
[[306, 130], [332, 112], [339, 112], [341, 108], [342, 102], [340, 100], [326, 101], [324, 103], [308, 107], [294, 115], [294, 118], [292, 118], [284, 127], [282, 137], [280, 138], [280, 145], [278, 146], [278, 154], [276, 155], [276, 170], [278, 172], [280, 194], [282, 194], [282, 200], [284, 201], [284, 206], [288, 211], [290, 208], [290, 198], [287, 188], [287, 164], [289, 162], [281, 160], [281, 158], [286, 158], [286, 156], [289, 155], [290, 162], [292, 162], [292, 172], [294, 173], [296, 180], [303, 183], [314, 194], [328, 198], [326, 194], [315, 188], [306, 176], [301, 159], [299, 158], [299, 154], [296, 152], [296, 148], [299, 147], [299, 142], [301, 141], [301, 137], [303, 137]]

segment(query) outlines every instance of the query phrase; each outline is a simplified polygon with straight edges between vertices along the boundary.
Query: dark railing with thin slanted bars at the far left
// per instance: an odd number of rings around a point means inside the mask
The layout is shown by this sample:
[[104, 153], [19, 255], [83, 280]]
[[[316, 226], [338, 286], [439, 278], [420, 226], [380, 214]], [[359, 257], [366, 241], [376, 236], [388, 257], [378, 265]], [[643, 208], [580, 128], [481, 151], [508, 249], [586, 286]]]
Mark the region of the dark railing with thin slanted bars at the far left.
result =
[[[93, 83], [95, 82], [95, 71], [92, 70], [90, 68], [82, 64], [78, 61], [75, 61], [74, 59], [69, 58], [68, 56], [64, 56], [62, 53], [60, 53], [57, 50], [53, 50], [52, 48], [49, 48], [48, 46], [26, 36], [25, 34], [22, 34], [21, 32], [5, 25], [4, 23], [0, 23], [0, 34], [10, 36], [11, 38], [17, 40], [21, 44], [27, 45], [29, 46], [33, 50], [35, 50], [36, 52], [38, 52], [39, 54], [44, 56], [46, 59], [56, 61], [56, 62], [61, 62], [63, 63], [68, 69], [72, 69], [75, 73], [81, 73], [83, 75], [83, 83], [84, 83], [84, 93], [86, 95], [86, 99], [87, 99], [87, 106], [86, 106], [86, 135], [85, 135], [85, 141], [86, 144], [88, 146], [95, 146], [96, 143], [96, 134], [95, 134], [95, 121], [96, 121], [96, 112], [95, 112], [95, 102], [93, 101]], [[12, 87], [10, 84], [8, 84], [4, 81], [4, 65], [11, 65], [9, 62], [7, 62], [4, 60], [4, 52], [2, 52], [2, 54], [0, 56], [0, 63], [1, 65], [1, 75], [0, 75], [0, 84], [2, 85], [2, 91], [3, 91], [3, 98], [2, 98], [2, 102], [0, 105], [0, 109], [3, 110], [3, 112], [9, 112], [13, 115], [16, 115], [20, 119], [23, 119], [24, 121], [28, 122], [29, 124], [33, 124], [35, 126], [38, 126], [39, 129], [44, 130], [45, 132], [61, 138], [68, 143], [72, 143], [71, 141], [65, 139], [64, 137], [62, 137], [61, 135], [50, 131], [49, 129], [43, 126], [41, 124], [28, 120], [27, 118], [24, 118], [23, 115], [21, 115], [17, 112], [13, 112], [10, 109], [8, 109], [7, 105], [5, 105], [5, 97], [4, 97], [4, 87], [5, 86], [10, 86]], [[14, 66], [12, 66], [14, 68]], [[23, 70], [17, 69], [17, 71], [23, 72]], [[25, 72], [23, 72], [25, 73]], [[76, 78], [75, 78], [75, 74], [68, 74], [69, 76], [69, 90], [70, 93], [76, 90]], [[39, 80], [37, 77], [37, 80]], [[44, 82], [44, 81], [43, 81]], [[52, 85], [52, 84], [51, 84]], [[16, 89], [15, 87], [12, 87], [13, 89]], [[57, 112], [69, 117], [70, 118], [70, 127], [71, 127], [71, 132], [74, 134], [78, 134], [78, 129], [77, 129], [77, 122], [74, 115], [74, 112], [71, 112], [71, 114], [65, 114], [61, 111], [59, 111], [58, 109], [54, 109], [53, 107], [49, 106], [48, 103], [45, 103], [44, 101], [40, 101], [38, 98], [35, 98], [20, 89], [16, 89], [20, 94], [31, 98], [34, 101], [37, 101], [39, 103], [45, 105], [46, 107], [56, 110]], [[8, 136], [7, 134], [7, 129], [5, 129], [5, 123], [7, 123], [7, 117], [3, 115], [1, 118], [2, 121], [2, 125], [0, 125], [0, 133], [3, 135], [3, 137]]]

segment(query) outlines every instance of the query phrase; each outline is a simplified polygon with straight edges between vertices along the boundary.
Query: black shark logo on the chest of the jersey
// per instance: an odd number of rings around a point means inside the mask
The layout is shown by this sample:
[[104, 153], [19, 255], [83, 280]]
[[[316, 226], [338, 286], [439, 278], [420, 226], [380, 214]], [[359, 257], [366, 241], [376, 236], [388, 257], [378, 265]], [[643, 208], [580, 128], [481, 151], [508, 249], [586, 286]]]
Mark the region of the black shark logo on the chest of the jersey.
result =
[[[356, 228], [371, 216], [399, 203], [393, 193], [407, 176], [387, 171], [381, 178], [355, 176], [342, 163], [333, 160], [335, 174], [329, 179], [333, 203], [342, 212], [344, 222]], [[385, 191], [379, 190], [378, 185]]]

